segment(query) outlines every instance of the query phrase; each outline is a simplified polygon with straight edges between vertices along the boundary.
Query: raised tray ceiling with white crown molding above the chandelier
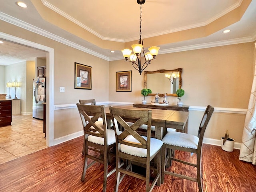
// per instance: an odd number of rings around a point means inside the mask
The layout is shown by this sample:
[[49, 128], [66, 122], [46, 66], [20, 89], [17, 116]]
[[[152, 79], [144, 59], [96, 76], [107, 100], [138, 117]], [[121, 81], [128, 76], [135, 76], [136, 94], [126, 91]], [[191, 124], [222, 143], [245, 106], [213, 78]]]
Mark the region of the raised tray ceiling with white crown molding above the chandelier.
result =
[[[0, 19], [106, 60], [122, 59], [120, 50], [139, 38], [136, 0], [23, 0], [26, 9], [15, 2], [0, 0]], [[256, 0], [146, 0], [142, 38], [146, 47], [160, 46], [159, 54], [252, 42], [255, 20]], [[0, 61], [1, 53], [0, 46]]]

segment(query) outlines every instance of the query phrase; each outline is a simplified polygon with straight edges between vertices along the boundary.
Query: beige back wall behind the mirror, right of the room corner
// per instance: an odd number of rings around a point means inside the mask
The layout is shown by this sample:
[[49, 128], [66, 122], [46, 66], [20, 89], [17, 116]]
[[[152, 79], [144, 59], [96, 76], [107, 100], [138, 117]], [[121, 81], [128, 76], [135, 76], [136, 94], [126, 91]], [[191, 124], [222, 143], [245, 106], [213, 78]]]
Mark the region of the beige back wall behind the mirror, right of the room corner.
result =
[[[172, 70], [183, 68], [182, 97], [184, 105], [207, 106], [216, 108], [246, 109], [254, 75], [254, 43], [243, 43], [214, 48], [190, 50], [170, 54], [160, 54], [152, 60], [149, 71], [159, 69]], [[116, 71], [132, 70], [132, 92], [116, 92]], [[124, 60], [110, 62], [109, 100], [120, 102], [141, 102], [144, 76]], [[148, 87], [150, 88], [150, 87]], [[163, 98], [160, 98], [160, 101]], [[153, 96], [146, 97], [147, 102], [154, 101]], [[176, 104], [177, 98], [169, 96], [170, 104]], [[203, 112], [190, 111], [189, 133], [197, 134]], [[242, 140], [245, 114], [215, 112], [206, 130], [205, 137], [220, 139], [226, 129], [236, 142]]]

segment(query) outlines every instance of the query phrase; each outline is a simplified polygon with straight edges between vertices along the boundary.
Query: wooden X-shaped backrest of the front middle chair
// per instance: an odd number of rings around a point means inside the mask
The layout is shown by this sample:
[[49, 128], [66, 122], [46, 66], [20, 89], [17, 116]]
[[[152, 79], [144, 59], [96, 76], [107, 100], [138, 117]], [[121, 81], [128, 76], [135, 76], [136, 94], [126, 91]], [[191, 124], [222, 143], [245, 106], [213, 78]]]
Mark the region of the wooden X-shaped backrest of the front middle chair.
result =
[[[117, 145], [124, 144], [127, 146], [133, 146], [137, 148], [147, 149], [147, 156], [150, 155], [150, 136], [151, 136], [151, 121], [152, 121], [152, 111], [151, 110], [137, 110], [137, 109], [122, 109], [110, 106], [110, 113], [112, 115], [113, 122], [118, 122], [124, 131], [117, 134], [118, 127], [114, 123], [114, 129], [116, 132], [116, 143]], [[115, 121], [116, 120], [116, 121]], [[129, 126], [126, 122], [134, 122]], [[147, 130], [147, 140], [145, 140], [136, 130], [140, 128], [143, 124], [148, 125]], [[124, 140], [126, 136], [132, 135], [136, 140], [126, 141]], [[119, 148], [119, 147], [118, 147]]]

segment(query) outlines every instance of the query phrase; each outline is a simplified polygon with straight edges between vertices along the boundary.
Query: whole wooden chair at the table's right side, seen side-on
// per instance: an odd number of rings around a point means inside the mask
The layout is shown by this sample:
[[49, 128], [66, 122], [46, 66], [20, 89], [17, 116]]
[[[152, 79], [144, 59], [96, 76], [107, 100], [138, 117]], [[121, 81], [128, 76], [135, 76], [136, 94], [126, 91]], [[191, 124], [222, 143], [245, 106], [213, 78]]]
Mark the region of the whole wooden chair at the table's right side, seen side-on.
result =
[[[206, 130], [206, 127], [208, 125], [208, 122], [210, 121], [210, 118], [212, 116], [212, 113], [214, 112], [214, 108], [210, 105], [207, 106], [204, 115], [202, 117], [199, 130], [198, 130], [198, 135], [194, 136], [192, 134], [186, 134], [182, 132], [174, 132], [174, 131], [169, 131], [166, 133], [166, 135], [163, 137], [162, 142], [164, 143], [162, 146], [162, 163], [161, 163], [161, 183], [164, 183], [164, 175], [168, 174], [171, 176], [191, 180], [194, 182], [198, 183], [198, 188], [199, 191], [202, 192], [202, 172], [201, 172], [201, 156], [202, 156], [202, 142], [204, 138], [204, 132]], [[187, 162], [184, 160], [180, 160], [174, 157], [174, 155], [168, 155], [166, 157], [166, 150], [171, 149], [172, 152], [174, 150], [180, 150], [180, 151], [185, 151], [185, 152], [190, 152], [190, 153], [195, 153], [196, 154], [196, 164], [193, 164], [191, 162]], [[166, 170], [166, 163], [169, 160], [174, 160], [183, 164], [187, 164], [190, 166], [196, 167], [196, 178], [182, 175], [182, 174], [177, 174], [175, 172], [170, 172]], [[172, 162], [171, 162], [172, 164]]]

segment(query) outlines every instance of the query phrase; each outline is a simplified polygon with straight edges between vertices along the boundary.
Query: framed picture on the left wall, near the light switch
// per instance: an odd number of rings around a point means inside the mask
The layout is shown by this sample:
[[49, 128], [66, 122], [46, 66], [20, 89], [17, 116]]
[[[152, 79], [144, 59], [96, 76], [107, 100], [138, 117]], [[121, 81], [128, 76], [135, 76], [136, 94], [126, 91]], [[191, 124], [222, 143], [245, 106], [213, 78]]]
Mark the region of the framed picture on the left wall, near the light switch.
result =
[[75, 62], [75, 89], [92, 89], [92, 67]]

